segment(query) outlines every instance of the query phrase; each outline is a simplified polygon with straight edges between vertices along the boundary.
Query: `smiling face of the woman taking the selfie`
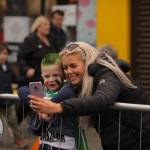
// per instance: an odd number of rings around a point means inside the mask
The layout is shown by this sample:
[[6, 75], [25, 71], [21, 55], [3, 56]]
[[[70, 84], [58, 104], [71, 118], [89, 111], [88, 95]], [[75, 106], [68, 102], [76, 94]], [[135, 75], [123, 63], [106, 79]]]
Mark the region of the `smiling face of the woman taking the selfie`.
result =
[[79, 54], [62, 56], [62, 64], [68, 81], [73, 85], [77, 85], [82, 81], [85, 65]]

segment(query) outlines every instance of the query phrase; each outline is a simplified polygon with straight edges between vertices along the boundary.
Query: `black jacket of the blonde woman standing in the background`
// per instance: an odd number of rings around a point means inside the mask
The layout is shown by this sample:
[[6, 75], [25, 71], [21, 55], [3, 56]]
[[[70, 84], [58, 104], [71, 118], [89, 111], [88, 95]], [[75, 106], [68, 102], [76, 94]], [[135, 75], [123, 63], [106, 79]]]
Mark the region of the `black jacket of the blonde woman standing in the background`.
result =
[[[18, 53], [20, 75], [23, 77], [20, 78], [20, 80], [22, 79], [20, 86], [28, 85], [31, 81], [42, 81], [41, 60], [46, 54], [51, 52], [54, 52], [52, 48], [46, 46], [35, 32], [25, 38]], [[27, 78], [25, 74], [30, 68], [35, 69], [36, 72], [32, 78]]]

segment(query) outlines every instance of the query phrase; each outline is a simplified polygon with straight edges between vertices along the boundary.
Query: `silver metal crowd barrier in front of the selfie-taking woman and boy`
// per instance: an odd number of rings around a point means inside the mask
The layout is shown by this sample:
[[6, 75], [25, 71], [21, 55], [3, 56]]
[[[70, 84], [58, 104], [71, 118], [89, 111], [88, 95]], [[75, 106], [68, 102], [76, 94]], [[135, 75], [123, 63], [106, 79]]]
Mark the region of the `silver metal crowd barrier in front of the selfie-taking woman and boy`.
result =
[[[19, 97], [17, 94], [0, 94], [0, 100], [19, 100]], [[132, 111], [140, 111], [141, 112], [141, 127], [142, 130], [142, 113], [143, 112], [150, 112], [150, 106], [149, 105], [140, 105], [140, 104], [129, 104], [129, 103], [119, 103], [116, 102], [111, 109], [118, 109], [120, 110], [119, 113], [119, 138], [118, 138], [118, 150], [120, 149], [120, 121], [121, 121], [121, 110], [132, 110]], [[140, 131], [140, 147], [139, 150], [141, 150], [141, 134], [142, 131]]]

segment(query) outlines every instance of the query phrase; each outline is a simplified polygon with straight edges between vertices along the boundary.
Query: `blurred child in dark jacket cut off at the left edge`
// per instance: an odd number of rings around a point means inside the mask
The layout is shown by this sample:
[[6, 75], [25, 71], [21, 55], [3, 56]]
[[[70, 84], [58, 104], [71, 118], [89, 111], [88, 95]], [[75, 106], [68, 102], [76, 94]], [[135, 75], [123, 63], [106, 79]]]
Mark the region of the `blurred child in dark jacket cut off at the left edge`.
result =
[[[13, 93], [12, 83], [17, 83], [17, 76], [15, 75], [11, 65], [7, 62], [10, 51], [5, 43], [0, 43], [0, 94]], [[14, 136], [14, 147], [16, 148], [27, 148], [28, 145], [23, 141], [21, 137], [21, 130], [19, 129], [16, 107], [14, 101], [0, 100], [0, 114], [6, 112], [7, 107], [7, 122]]]

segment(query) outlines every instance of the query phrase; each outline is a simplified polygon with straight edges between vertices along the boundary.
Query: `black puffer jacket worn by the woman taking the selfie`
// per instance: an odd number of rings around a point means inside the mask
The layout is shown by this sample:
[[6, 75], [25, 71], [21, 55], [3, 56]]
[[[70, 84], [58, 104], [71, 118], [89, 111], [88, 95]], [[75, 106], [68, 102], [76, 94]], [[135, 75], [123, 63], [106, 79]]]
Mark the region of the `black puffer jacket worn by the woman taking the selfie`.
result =
[[[64, 115], [95, 115], [94, 124], [104, 150], [118, 149], [119, 111], [109, 109], [115, 102], [150, 104], [148, 96], [135, 81], [137, 89], [124, 86], [107, 67], [91, 65], [89, 74], [94, 77], [93, 95], [64, 101]], [[90, 86], [90, 85], [89, 85]], [[100, 115], [99, 115], [100, 114]], [[100, 124], [99, 124], [100, 119]], [[142, 150], [150, 149], [150, 114], [143, 113]], [[140, 113], [122, 111], [120, 150], [137, 150], [140, 143]]]

